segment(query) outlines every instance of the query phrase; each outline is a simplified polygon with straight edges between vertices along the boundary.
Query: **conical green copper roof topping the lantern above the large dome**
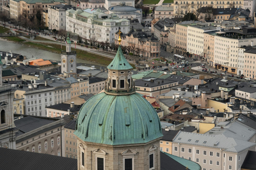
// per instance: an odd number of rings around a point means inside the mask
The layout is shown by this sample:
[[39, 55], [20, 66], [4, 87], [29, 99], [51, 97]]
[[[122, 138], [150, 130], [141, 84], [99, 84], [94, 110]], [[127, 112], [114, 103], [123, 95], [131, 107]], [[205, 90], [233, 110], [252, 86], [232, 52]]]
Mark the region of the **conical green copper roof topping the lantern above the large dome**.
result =
[[130, 70], [133, 68], [125, 59], [121, 46], [118, 47], [114, 60], [107, 66], [107, 68], [110, 70]]

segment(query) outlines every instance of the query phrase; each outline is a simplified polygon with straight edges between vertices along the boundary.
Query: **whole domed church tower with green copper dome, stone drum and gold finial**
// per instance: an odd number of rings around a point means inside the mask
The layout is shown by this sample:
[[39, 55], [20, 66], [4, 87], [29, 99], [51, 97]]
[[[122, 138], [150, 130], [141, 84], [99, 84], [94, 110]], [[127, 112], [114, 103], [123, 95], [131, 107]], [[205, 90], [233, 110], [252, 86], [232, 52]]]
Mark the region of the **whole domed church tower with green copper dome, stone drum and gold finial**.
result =
[[76, 121], [78, 169], [160, 169], [161, 123], [135, 92], [121, 46], [107, 67], [105, 92], [87, 100]]

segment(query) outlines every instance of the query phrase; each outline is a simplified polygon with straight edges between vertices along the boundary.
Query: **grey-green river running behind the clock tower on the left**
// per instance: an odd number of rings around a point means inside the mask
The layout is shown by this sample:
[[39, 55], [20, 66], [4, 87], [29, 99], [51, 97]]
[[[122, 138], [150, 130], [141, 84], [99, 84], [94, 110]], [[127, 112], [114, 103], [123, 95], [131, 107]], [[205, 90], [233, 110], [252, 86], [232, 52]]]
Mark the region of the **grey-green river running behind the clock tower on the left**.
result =
[[[12, 53], [21, 54], [23, 56], [27, 56], [27, 58], [34, 57], [34, 58], [42, 58], [44, 60], [60, 61], [60, 54], [51, 53], [42, 49], [36, 49], [36, 48], [0, 40], [0, 51], [10, 52], [10, 50], [12, 50]], [[95, 63], [93, 62], [81, 60], [79, 58], [76, 59], [76, 62], [83, 63], [83, 65], [86, 65], [86, 66], [95, 65]], [[97, 65], [100, 65], [100, 64], [97, 64]], [[97, 65], [95, 66], [97, 67]]]

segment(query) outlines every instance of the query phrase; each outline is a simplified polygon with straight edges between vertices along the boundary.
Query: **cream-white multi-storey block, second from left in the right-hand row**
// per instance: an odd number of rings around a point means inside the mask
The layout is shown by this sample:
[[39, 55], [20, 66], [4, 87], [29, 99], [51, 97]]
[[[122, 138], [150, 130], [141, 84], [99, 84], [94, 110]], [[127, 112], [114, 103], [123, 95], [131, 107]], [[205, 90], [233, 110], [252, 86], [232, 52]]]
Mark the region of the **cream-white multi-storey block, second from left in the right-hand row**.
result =
[[194, 55], [204, 55], [204, 32], [216, 30], [209, 23], [197, 23], [188, 25], [187, 51]]

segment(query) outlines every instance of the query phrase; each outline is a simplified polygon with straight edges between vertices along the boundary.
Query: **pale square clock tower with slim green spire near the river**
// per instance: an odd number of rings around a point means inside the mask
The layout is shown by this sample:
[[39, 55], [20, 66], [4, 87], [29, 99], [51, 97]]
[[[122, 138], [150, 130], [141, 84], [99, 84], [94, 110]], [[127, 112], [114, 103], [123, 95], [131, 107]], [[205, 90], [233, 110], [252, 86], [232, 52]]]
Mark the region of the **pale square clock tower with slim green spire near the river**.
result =
[[61, 73], [71, 72], [76, 73], [76, 52], [71, 51], [71, 41], [67, 37], [66, 52], [61, 53]]

